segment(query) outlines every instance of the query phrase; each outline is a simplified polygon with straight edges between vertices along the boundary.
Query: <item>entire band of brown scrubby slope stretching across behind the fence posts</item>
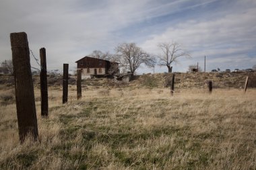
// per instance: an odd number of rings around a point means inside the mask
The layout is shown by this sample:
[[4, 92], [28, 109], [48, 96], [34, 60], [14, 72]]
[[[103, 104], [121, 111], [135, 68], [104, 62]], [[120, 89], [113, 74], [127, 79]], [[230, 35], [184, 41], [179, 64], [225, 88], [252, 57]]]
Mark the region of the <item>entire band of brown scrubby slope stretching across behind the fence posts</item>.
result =
[[[249, 76], [248, 87], [256, 87], [256, 73], [174, 73], [175, 88], [204, 88], [207, 81], [212, 81], [214, 88], [243, 88], [246, 77]], [[137, 75], [129, 83], [117, 82], [114, 79], [85, 79], [82, 81], [85, 86], [104, 87], [170, 87], [172, 73], [157, 73]], [[40, 85], [39, 76], [33, 76], [34, 86]], [[49, 86], [62, 85], [62, 75], [49, 74]], [[69, 77], [69, 84], [75, 85], [76, 77]], [[0, 75], [0, 84], [14, 85], [14, 79], [9, 75]]]

